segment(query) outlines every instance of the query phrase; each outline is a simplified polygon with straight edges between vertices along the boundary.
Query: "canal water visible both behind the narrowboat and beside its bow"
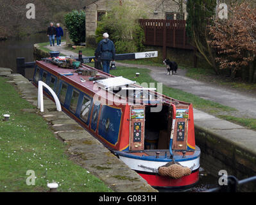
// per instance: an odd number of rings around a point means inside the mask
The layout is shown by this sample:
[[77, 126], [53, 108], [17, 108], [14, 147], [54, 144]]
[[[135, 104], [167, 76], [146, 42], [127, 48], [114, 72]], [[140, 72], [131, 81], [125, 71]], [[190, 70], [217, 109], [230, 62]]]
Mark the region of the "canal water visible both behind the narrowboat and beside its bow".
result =
[[[37, 43], [47, 42], [48, 38], [45, 33], [38, 33], [30, 35], [29, 37], [22, 38], [21, 40], [12, 38], [5, 41], [0, 41], [0, 67], [6, 67], [16, 70], [16, 58], [26, 58], [26, 61], [34, 61], [33, 45]], [[32, 78], [33, 69], [26, 69], [26, 78]], [[203, 154], [203, 153], [202, 153]], [[200, 181], [199, 183], [185, 192], [205, 192], [209, 188], [216, 187], [218, 183], [217, 177], [205, 172], [203, 165], [200, 168]], [[170, 190], [160, 190], [163, 192], [170, 192]]]

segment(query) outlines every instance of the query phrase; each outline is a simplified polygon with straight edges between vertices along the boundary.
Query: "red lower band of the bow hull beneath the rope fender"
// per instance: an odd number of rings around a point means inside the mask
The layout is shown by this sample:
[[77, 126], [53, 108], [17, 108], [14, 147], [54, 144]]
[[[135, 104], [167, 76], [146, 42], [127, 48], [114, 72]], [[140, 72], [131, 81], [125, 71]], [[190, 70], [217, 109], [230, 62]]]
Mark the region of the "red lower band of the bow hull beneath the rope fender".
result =
[[150, 186], [159, 186], [159, 187], [179, 187], [179, 186], [189, 186], [195, 184], [199, 180], [199, 170], [193, 172], [189, 176], [184, 176], [180, 179], [171, 179], [170, 177], [164, 177], [159, 175], [152, 174], [141, 174], [138, 173], [142, 178], [144, 178]]

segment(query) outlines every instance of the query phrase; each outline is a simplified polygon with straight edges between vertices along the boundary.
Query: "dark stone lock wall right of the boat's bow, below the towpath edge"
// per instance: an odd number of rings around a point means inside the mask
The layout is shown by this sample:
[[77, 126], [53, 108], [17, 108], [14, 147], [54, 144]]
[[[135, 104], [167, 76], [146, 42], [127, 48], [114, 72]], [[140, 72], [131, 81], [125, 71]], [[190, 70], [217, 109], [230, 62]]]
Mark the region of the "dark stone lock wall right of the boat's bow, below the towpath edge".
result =
[[[200, 164], [210, 174], [217, 176], [219, 170], [226, 170], [228, 175], [237, 179], [256, 176], [256, 153], [248, 147], [232, 142], [205, 127], [195, 123], [196, 145], [201, 149]], [[239, 186], [243, 192], [255, 192], [256, 184], [247, 183]]]

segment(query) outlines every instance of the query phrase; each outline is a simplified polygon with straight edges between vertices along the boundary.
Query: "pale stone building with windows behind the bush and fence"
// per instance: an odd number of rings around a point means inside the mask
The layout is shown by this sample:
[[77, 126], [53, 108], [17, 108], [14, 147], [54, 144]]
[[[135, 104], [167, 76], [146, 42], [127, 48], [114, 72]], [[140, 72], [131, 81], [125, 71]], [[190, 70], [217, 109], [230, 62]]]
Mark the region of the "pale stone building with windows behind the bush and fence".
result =
[[[85, 3], [86, 15], [86, 40], [87, 44], [95, 41], [95, 31], [97, 23], [102, 15], [107, 15], [114, 5], [121, 2], [128, 1], [135, 6], [137, 4], [144, 5], [147, 11], [148, 19], [179, 19], [184, 20], [187, 18], [186, 5], [187, 0], [88, 0]], [[184, 2], [182, 6], [176, 2]], [[182, 12], [180, 12], [182, 11]], [[181, 15], [183, 13], [183, 15]]]

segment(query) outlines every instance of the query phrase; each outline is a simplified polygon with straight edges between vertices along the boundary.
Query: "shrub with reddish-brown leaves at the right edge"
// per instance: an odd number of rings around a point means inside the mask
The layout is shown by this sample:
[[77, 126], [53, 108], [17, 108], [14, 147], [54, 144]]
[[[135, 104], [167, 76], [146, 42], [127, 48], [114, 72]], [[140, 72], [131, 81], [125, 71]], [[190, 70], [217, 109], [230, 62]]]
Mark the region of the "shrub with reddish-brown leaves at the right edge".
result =
[[221, 69], [232, 69], [233, 77], [237, 70], [247, 71], [248, 81], [256, 83], [256, 8], [235, 3], [228, 13], [228, 19], [212, 19], [209, 43], [218, 51]]

